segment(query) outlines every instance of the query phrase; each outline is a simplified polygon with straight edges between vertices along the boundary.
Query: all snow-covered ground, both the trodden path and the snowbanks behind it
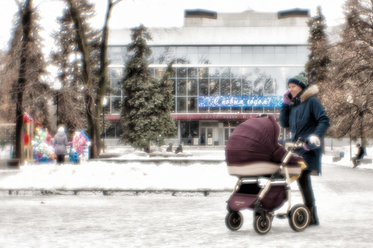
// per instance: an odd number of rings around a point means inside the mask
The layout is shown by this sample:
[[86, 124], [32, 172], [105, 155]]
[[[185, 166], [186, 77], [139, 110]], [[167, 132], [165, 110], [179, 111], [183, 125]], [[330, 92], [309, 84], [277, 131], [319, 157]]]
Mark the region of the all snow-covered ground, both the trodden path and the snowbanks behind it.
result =
[[[373, 228], [373, 165], [352, 168], [350, 147], [326, 149], [323, 176], [312, 177], [320, 226], [294, 232], [288, 220], [274, 219], [271, 231], [257, 235], [251, 210], [243, 210], [244, 225], [237, 232], [225, 226], [230, 192], [194, 196], [192, 189], [232, 189], [236, 178], [228, 175], [224, 151], [188, 149], [193, 157], [221, 158], [217, 164], [180, 166], [82, 161], [81, 164], [24, 165], [20, 170], [0, 170], [0, 247], [370, 247]], [[352, 149], [352, 153], [356, 152]], [[107, 153], [120, 159], [142, 158], [133, 149]], [[341, 161], [333, 156], [344, 152]], [[208, 155], [210, 153], [210, 155]], [[371, 158], [373, 149], [367, 149]], [[180, 159], [188, 159], [183, 157]], [[114, 195], [9, 195], [7, 189], [180, 189], [171, 194]], [[3, 190], [1, 190], [3, 189]], [[1, 195], [3, 192], [3, 195]], [[179, 192], [178, 192], [179, 193]], [[184, 193], [184, 194], [183, 194]], [[301, 203], [292, 187], [292, 206]], [[279, 209], [286, 210], [287, 203]]]

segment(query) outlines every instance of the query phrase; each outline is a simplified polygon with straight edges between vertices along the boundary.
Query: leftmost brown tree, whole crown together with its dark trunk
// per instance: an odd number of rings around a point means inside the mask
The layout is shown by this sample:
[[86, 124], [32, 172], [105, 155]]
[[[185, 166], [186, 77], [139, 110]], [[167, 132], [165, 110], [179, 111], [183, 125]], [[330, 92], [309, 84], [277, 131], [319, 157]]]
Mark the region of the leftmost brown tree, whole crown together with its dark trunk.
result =
[[[32, 1], [18, 2], [13, 37], [9, 51], [1, 60], [0, 116], [7, 122], [16, 119], [15, 157], [23, 162], [23, 113], [30, 113], [43, 126], [49, 127], [48, 99], [50, 87], [40, 82], [45, 62], [41, 51], [41, 29]], [[16, 116], [14, 116], [14, 113]]]

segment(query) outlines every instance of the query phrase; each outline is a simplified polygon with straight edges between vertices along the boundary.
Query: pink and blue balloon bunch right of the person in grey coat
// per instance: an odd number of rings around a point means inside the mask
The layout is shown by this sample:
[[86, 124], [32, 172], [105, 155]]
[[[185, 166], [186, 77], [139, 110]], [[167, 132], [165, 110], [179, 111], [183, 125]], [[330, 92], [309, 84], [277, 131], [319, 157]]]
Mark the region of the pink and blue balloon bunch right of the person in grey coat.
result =
[[84, 154], [88, 153], [88, 147], [90, 145], [91, 142], [89, 141], [88, 134], [84, 130], [75, 132], [70, 148], [70, 162], [78, 163], [80, 158], [85, 158]]

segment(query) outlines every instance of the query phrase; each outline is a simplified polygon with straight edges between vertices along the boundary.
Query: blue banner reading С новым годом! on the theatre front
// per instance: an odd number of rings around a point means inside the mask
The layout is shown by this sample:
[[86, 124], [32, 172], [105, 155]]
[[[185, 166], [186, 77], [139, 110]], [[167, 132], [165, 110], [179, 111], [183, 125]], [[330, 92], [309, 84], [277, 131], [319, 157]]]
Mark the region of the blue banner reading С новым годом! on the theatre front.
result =
[[200, 96], [198, 107], [281, 107], [282, 96]]

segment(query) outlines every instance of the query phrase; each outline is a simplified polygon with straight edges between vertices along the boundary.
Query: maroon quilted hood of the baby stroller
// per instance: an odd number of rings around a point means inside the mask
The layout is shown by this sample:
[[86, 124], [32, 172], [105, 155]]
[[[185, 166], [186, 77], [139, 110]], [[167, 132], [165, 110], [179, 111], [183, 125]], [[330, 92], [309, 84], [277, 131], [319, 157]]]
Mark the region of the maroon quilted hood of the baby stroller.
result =
[[228, 138], [225, 147], [227, 165], [253, 161], [280, 162], [286, 150], [278, 144], [279, 134], [280, 126], [273, 116], [246, 120]]

